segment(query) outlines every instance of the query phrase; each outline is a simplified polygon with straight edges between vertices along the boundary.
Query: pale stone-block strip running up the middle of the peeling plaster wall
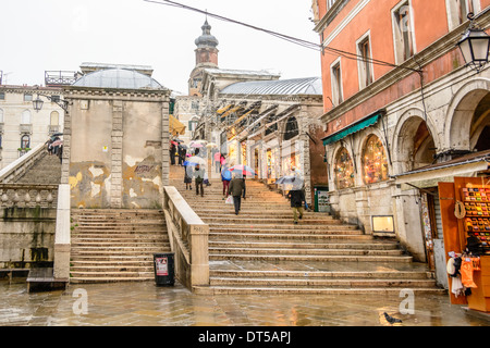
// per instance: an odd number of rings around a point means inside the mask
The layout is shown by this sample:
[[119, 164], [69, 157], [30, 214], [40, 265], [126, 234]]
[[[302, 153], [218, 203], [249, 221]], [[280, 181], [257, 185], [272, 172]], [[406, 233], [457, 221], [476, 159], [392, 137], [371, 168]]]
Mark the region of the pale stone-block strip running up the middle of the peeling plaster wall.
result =
[[111, 208], [122, 206], [122, 140], [123, 140], [123, 102], [112, 101], [111, 133]]

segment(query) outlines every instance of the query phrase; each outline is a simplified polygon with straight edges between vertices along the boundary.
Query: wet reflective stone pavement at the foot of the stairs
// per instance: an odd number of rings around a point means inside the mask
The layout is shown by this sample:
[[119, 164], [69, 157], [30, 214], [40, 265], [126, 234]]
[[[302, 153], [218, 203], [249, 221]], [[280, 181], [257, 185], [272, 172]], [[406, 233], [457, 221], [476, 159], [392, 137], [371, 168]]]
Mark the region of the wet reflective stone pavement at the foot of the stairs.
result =
[[[25, 279], [0, 281], [0, 326], [383, 326], [383, 313], [401, 326], [489, 326], [489, 321], [449, 303], [448, 295], [199, 296], [176, 283], [74, 284], [66, 290], [27, 293]], [[86, 301], [84, 301], [86, 299]], [[86, 306], [84, 306], [86, 303]], [[404, 304], [402, 304], [404, 306]], [[408, 308], [404, 307], [405, 310]]]

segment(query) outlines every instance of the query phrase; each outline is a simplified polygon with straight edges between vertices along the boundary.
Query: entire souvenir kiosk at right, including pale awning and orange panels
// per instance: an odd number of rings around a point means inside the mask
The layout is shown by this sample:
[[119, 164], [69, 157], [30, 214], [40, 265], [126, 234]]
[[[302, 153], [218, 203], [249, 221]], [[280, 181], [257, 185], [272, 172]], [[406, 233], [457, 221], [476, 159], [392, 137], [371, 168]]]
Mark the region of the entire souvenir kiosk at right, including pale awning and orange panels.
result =
[[405, 173], [396, 184], [417, 188], [425, 247], [451, 303], [490, 312], [490, 152]]

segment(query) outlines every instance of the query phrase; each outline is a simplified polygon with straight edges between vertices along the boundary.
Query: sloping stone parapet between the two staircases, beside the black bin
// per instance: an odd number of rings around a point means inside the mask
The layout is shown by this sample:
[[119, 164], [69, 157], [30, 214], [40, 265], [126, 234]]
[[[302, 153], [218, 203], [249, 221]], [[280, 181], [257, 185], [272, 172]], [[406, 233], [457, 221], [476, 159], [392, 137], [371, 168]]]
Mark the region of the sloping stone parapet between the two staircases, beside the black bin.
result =
[[174, 253], [175, 276], [189, 288], [209, 285], [209, 225], [173, 186], [164, 187], [163, 212]]

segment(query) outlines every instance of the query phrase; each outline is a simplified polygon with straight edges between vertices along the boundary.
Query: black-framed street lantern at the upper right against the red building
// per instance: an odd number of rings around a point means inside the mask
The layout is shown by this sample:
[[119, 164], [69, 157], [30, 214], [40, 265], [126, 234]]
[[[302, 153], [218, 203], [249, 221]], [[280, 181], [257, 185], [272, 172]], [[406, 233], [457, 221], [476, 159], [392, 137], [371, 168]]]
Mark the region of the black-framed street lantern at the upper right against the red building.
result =
[[490, 36], [473, 23], [474, 18], [475, 15], [469, 13], [469, 27], [463, 34], [463, 38], [457, 42], [457, 46], [463, 53], [466, 64], [479, 72], [488, 63]]

